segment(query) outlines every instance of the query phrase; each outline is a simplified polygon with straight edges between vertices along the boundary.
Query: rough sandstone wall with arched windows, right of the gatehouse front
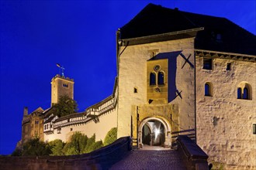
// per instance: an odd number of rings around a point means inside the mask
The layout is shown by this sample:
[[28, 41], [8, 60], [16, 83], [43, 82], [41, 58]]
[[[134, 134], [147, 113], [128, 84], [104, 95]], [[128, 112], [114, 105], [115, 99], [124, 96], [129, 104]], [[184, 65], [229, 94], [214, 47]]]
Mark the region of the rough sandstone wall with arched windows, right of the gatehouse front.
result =
[[[226, 70], [231, 63], [231, 70]], [[237, 99], [237, 86], [247, 82], [252, 100]], [[213, 84], [213, 96], [204, 96], [204, 84]], [[213, 70], [202, 70], [196, 57], [197, 143], [227, 169], [256, 168], [256, 63], [213, 59]]]

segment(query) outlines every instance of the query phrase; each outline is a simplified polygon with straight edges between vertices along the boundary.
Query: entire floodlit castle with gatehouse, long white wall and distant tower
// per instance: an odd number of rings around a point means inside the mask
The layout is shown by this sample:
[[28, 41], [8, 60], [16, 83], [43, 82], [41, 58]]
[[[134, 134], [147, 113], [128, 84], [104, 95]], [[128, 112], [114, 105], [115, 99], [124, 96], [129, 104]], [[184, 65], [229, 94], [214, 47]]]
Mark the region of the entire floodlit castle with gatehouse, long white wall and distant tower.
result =
[[[111, 128], [139, 147], [170, 147], [186, 134], [225, 168], [256, 168], [256, 37], [228, 19], [147, 5], [116, 32], [112, 95], [85, 112], [56, 117], [24, 109], [22, 142], [103, 140]], [[52, 103], [74, 80], [55, 76]]]

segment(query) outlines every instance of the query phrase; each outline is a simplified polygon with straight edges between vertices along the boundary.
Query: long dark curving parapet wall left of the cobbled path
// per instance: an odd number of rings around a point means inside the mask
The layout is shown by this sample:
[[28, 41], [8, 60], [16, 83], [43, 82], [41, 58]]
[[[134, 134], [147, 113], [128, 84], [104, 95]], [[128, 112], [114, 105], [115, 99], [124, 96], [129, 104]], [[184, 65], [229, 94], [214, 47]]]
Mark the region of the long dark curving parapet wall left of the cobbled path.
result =
[[123, 137], [111, 145], [84, 155], [0, 157], [0, 167], [7, 169], [109, 169], [131, 150], [131, 138]]

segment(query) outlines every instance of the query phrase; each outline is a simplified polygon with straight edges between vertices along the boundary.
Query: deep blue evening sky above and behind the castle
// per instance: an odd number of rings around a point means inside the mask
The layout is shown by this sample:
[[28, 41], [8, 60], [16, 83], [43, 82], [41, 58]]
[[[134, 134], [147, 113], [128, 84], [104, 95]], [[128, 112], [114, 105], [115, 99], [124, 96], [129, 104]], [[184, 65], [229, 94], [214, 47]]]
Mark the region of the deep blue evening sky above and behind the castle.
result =
[[[108, 97], [116, 76], [116, 30], [148, 3], [230, 19], [256, 34], [254, 0], [5, 1], [0, 3], [0, 155], [21, 139], [23, 107], [50, 107], [50, 80], [65, 67], [85, 110]], [[235, 35], [234, 35], [235, 36]]]

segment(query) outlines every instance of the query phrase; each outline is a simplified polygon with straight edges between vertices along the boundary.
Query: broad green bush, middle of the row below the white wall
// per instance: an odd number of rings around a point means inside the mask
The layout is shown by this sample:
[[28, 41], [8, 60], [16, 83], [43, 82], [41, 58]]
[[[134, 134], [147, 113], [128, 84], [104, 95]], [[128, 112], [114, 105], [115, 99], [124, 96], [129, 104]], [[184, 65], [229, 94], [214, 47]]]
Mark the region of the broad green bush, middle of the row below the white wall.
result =
[[83, 154], [87, 144], [88, 137], [85, 134], [76, 132], [71, 136], [71, 141], [64, 146], [64, 155]]

